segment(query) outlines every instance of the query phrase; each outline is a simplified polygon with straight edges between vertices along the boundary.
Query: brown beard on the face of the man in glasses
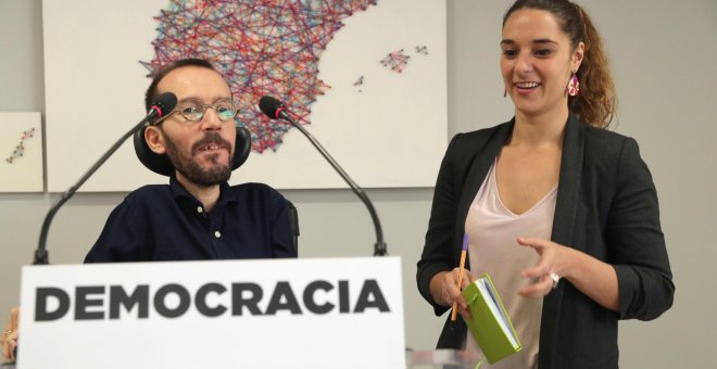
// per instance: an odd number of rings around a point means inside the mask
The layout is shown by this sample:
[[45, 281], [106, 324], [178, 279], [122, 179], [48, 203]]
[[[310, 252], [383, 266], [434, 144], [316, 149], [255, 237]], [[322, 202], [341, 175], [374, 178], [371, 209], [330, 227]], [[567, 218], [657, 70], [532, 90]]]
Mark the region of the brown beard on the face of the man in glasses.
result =
[[[164, 142], [167, 148], [167, 156], [174, 165], [174, 168], [177, 169], [183, 176], [185, 176], [192, 183], [201, 187], [211, 187], [229, 180], [231, 176], [231, 161], [232, 161], [232, 147], [231, 144], [223, 139], [217, 132], [207, 132], [204, 133], [204, 137], [194, 142], [191, 147], [191, 152], [181, 152], [177, 145], [172, 142], [172, 140], [164, 135]], [[194, 158], [194, 155], [199, 153], [199, 148], [206, 145], [209, 143], [221, 144], [227, 149], [229, 152], [229, 164], [223, 165], [218, 164], [218, 154], [212, 154], [209, 156], [212, 166], [210, 168], [202, 168], [199, 162]]]

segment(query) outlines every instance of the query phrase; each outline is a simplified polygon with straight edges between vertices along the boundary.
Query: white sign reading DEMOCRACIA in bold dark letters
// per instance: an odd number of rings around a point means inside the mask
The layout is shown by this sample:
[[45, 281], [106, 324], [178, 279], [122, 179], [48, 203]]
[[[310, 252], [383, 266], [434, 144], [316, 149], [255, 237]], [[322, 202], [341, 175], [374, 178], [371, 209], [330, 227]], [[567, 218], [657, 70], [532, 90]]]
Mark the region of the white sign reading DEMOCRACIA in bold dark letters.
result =
[[398, 257], [23, 268], [17, 368], [405, 368]]

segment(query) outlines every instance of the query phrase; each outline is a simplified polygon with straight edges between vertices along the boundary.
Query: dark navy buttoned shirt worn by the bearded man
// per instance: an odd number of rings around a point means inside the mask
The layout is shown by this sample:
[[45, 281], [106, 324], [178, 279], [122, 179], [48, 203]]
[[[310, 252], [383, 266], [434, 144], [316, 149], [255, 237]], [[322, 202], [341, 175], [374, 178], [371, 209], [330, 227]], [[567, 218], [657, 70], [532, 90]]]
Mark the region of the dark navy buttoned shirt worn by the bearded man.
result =
[[85, 263], [297, 257], [287, 201], [266, 184], [222, 184], [211, 212], [175, 178], [110, 214]]

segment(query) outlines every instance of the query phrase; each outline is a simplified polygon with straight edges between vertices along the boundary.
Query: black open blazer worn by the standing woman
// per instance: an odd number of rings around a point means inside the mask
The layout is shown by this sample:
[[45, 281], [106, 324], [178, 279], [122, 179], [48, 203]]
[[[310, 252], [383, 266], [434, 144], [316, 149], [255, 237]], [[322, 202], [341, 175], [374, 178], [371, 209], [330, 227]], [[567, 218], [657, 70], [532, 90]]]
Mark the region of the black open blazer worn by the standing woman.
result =
[[[437, 316], [448, 307], [433, 301], [430, 279], [458, 265], [468, 207], [514, 124], [458, 133], [443, 157], [416, 273]], [[568, 118], [551, 240], [615, 268], [619, 311], [563, 280], [543, 297], [539, 367], [617, 368], [617, 320], [657, 318], [675, 294], [657, 194], [633, 139]], [[462, 319], [446, 319], [438, 347], [463, 348], [465, 336]]]

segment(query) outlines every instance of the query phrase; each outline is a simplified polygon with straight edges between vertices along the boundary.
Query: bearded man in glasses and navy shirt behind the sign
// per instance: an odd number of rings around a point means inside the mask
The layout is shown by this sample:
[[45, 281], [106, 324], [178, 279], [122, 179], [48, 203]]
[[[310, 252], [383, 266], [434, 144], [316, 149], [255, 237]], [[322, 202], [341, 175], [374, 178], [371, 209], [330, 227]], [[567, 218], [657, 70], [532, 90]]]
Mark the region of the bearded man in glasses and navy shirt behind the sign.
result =
[[173, 92], [177, 106], [147, 127], [150, 150], [175, 168], [110, 215], [86, 263], [297, 257], [288, 203], [261, 183], [230, 187], [237, 110], [229, 86], [203, 60], [162, 68], [146, 98]]

